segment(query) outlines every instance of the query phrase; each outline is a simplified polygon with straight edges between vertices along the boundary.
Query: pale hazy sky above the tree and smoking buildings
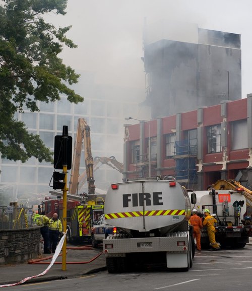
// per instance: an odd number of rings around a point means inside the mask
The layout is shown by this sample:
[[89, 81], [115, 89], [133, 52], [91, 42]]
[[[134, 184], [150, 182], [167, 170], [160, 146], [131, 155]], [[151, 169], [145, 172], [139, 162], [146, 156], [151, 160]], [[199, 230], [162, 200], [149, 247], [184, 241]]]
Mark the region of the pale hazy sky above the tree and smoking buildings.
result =
[[69, 26], [77, 45], [61, 54], [77, 70], [94, 72], [95, 82], [145, 88], [144, 19], [198, 24], [200, 28], [241, 35], [242, 98], [252, 93], [251, 0], [69, 0], [67, 15], [50, 15], [56, 26]]

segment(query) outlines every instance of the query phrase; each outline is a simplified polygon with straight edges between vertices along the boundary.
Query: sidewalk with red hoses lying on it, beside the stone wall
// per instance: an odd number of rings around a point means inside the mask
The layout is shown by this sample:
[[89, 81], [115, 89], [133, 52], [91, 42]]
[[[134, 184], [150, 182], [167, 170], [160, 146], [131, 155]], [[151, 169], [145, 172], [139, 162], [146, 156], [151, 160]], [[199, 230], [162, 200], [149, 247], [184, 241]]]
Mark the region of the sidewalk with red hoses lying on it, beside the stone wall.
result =
[[[0, 285], [18, 283], [27, 277], [42, 273], [51, 262], [52, 255], [43, 254], [37, 260], [31, 260], [28, 263], [0, 266]], [[62, 270], [62, 264], [57, 264], [60, 262], [62, 262], [62, 257], [59, 255], [47, 273], [31, 278], [27, 282], [34, 283], [73, 278], [106, 270], [105, 255], [102, 253], [102, 247], [92, 249], [92, 247], [87, 246], [83, 248], [68, 246], [66, 270]]]

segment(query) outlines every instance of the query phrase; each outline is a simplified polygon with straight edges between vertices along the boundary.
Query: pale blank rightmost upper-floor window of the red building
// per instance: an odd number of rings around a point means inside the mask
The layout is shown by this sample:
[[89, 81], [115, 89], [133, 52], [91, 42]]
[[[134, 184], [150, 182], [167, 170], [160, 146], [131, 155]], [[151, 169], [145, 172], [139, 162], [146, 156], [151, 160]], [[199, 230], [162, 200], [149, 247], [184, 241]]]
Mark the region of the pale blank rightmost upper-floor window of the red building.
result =
[[247, 148], [247, 120], [232, 122], [232, 150]]

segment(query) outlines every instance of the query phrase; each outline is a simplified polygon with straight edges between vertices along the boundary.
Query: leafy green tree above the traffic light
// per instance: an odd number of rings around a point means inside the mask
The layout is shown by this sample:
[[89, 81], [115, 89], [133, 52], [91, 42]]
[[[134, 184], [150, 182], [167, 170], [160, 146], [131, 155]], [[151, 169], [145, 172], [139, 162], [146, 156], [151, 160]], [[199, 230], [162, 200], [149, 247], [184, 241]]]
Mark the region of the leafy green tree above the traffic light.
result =
[[27, 131], [15, 118], [26, 107], [39, 111], [37, 101], [54, 102], [60, 95], [70, 102], [83, 98], [69, 86], [79, 75], [58, 54], [64, 45], [77, 47], [66, 37], [71, 26], [55, 28], [43, 16], [65, 15], [67, 0], [3, 0], [0, 4], [0, 152], [2, 158], [22, 162], [35, 157], [51, 161], [39, 135]]

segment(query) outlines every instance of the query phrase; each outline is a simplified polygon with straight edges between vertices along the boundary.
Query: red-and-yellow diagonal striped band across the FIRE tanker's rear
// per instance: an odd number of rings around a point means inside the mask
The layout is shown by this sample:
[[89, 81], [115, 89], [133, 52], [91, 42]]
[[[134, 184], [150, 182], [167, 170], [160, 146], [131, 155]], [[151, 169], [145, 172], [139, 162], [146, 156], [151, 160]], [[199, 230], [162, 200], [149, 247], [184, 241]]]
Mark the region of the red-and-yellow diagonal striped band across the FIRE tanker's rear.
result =
[[146, 211], [131, 211], [131, 212], [117, 212], [105, 214], [105, 219], [117, 219], [125, 217], [137, 216], [160, 216], [160, 215], [185, 215], [185, 210], [146, 210]]

